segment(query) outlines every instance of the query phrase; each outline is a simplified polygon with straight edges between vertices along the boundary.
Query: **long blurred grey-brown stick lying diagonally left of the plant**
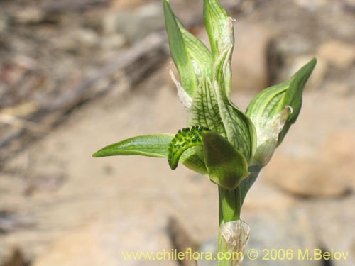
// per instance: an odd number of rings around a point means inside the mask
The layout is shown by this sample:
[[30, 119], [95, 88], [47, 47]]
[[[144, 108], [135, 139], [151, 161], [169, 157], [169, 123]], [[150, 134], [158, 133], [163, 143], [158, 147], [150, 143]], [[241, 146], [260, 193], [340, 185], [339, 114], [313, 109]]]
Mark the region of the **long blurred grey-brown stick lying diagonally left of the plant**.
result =
[[[107, 92], [111, 88], [110, 86], [99, 92], [93, 92], [92, 87], [94, 87], [94, 85], [100, 80], [109, 77], [111, 74], [132, 67], [147, 54], [151, 53], [158, 55], [160, 56], [160, 59], [155, 58], [154, 60], [146, 60], [146, 65], [140, 65], [139, 67], [146, 67], [147, 70], [149, 68], [156, 68], [156, 65], [162, 60], [161, 57], [164, 58], [163, 44], [165, 43], [165, 40], [166, 36], [164, 33], [152, 33], [141, 40], [141, 42], [133, 45], [129, 48], [129, 50], [120, 52], [119, 55], [117, 55], [114, 60], [109, 62], [106, 67], [97, 70], [97, 74], [94, 74], [92, 77], [88, 77], [84, 80], [84, 82], [81, 82], [76, 87], [68, 90], [67, 93], [60, 96], [60, 98], [56, 101], [50, 102], [47, 106], [43, 106], [42, 109], [38, 111], [42, 117], [40, 120], [44, 119], [45, 121], [41, 124], [45, 125], [47, 128], [50, 128], [50, 126], [58, 124], [58, 121], [60, 121], [60, 118], [64, 115], [64, 113], [72, 109], [77, 104], [80, 104], [86, 99], [94, 98], [98, 94], [104, 94], [104, 92]], [[160, 55], [158, 51], [160, 51]], [[137, 79], [137, 77], [133, 77], [133, 79], [136, 79], [135, 82], [139, 82], [142, 78], [143, 77]], [[50, 119], [46, 119], [47, 117]], [[26, 134], [26, 131], [23, 130], [23, 128], [19, 128], [17, 131], [9, 133], [0, 140], [0, 166], [1, 162], [4, 162], [4, 160], [8, 158], [11, 153], [16, 152], [16, 150], [21, 147], [21, 145], [11, 145], [11, 143], [13, 143], [16, 139], [21, 138], [24, 134]]]

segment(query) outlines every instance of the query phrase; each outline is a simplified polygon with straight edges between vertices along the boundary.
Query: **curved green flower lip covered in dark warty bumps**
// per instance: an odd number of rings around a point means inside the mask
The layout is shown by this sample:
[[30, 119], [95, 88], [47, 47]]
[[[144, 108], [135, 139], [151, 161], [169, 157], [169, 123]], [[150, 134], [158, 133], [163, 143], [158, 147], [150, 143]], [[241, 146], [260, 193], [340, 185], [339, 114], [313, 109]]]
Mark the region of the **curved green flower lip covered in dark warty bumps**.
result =
[[207, 130], [209, 129], [202, 126], [192, 126], [192, 128], [182, 128], [178, 131], [170, 141], [168, 148], [168, 162], [171, 170], [178, 167], [182, 153], [192, 147], [202, 146], [202, 131]]

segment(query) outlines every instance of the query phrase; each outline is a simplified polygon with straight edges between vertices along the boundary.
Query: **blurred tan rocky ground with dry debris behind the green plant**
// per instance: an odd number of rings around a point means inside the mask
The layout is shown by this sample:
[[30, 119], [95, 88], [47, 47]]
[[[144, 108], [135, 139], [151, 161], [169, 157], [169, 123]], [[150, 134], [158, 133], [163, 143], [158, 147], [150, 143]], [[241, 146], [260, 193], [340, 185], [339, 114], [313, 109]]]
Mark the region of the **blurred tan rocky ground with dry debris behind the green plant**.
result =
[[[206, 41], [202, 1], [171, 2]], [[349, 252], [245, 265], [355, 265], [355, 2], [222, 4], [236, 18], [243, 109], [318, 60], [299, 120], [246, 199], [249, 247]], [[160, 0], [0, 1], [1, 266], [174, 266], [121, 251], [214, 249], [217, 189], [204, 177], [165, 160], [91, 157], [185, 126], [163, 29]]]

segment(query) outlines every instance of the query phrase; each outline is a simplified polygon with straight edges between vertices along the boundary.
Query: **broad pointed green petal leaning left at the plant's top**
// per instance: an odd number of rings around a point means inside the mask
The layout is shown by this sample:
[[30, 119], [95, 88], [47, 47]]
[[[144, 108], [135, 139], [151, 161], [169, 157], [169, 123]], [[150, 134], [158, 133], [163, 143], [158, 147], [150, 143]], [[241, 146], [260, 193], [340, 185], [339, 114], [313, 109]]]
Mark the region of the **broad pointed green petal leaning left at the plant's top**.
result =
[[212, 74], [212, 55], [206, 46], [187, 31], [164, 0], [165, 24], [170, 53], [180, 74], [182, 88], [193, 98], [197, 84]]

